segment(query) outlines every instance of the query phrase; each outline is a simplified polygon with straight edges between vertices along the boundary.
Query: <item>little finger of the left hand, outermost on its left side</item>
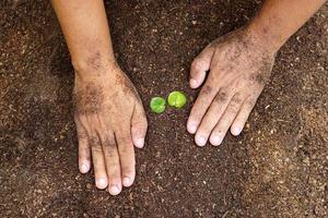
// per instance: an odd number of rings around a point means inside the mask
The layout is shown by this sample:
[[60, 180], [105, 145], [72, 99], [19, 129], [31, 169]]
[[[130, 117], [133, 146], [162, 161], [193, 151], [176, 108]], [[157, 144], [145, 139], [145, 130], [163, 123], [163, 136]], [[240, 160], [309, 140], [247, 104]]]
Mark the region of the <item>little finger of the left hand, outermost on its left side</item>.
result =
[[79, 169], [80, 172], [86, 173], [91, 166], [91, 153], [86, 131], [81, 125], [80, 121], [75, 120], [75, 126], [79, 141]]

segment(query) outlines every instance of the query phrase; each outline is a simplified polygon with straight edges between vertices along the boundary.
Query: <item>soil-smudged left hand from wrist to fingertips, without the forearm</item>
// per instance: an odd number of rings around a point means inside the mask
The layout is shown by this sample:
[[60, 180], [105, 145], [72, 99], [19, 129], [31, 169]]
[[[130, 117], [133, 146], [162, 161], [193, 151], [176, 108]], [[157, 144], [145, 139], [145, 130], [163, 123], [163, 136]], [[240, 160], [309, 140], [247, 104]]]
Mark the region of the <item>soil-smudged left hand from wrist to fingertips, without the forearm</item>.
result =
[[116, 195], [122, 185], [133, 183], [133, 144], [143, 147], [148, 124], [139, 95], [126, 74], [115, 63], [102, 71], [92, 72], [95, 76], [87, 78], [79, 76], [83, 74], [80, 72], [75, 77], [79, 168], [86, 173], [92, 159], [96, 186], [108, 186]]

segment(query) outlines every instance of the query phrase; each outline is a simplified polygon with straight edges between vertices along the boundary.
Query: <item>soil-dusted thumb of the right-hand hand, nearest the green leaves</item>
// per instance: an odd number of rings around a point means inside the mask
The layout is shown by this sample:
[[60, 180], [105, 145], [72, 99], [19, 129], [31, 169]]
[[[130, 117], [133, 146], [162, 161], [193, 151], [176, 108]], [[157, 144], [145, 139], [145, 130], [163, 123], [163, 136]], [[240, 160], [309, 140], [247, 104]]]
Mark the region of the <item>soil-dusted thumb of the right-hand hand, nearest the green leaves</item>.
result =
[[204, 50], [192, 61], [190, 68], [190, 87], [198, 88], [204, 81], [207, 71], [210, 70], [214, 48], [208, 46]]

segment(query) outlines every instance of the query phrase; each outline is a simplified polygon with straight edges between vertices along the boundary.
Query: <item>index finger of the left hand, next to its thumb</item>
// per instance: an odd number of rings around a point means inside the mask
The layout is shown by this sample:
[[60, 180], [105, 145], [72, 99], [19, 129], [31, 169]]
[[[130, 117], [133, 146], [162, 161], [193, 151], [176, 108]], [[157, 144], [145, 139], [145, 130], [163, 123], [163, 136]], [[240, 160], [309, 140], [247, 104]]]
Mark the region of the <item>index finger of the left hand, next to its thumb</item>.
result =
[[115, 137], [118, 145], [122, 185], [130, 186], [136, 177], [136, 159], [130, 125], [122, 125], [120, 131], [115, 132]]

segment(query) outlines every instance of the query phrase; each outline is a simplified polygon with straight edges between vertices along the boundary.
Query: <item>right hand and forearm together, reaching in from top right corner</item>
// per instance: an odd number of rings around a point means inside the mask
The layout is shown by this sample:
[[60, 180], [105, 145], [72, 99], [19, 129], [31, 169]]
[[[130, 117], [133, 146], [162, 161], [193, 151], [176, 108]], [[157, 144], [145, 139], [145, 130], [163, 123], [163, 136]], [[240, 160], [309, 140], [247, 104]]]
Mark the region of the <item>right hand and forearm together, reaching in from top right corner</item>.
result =
[[194, 60], [190, 87], [204, 83], [187, 122], [197, 145], [220, 145], [229, 129], [241, 134], [270, 78], [277, 51], [324, 3], [267, 0], [248, 25], [215, 39]]

